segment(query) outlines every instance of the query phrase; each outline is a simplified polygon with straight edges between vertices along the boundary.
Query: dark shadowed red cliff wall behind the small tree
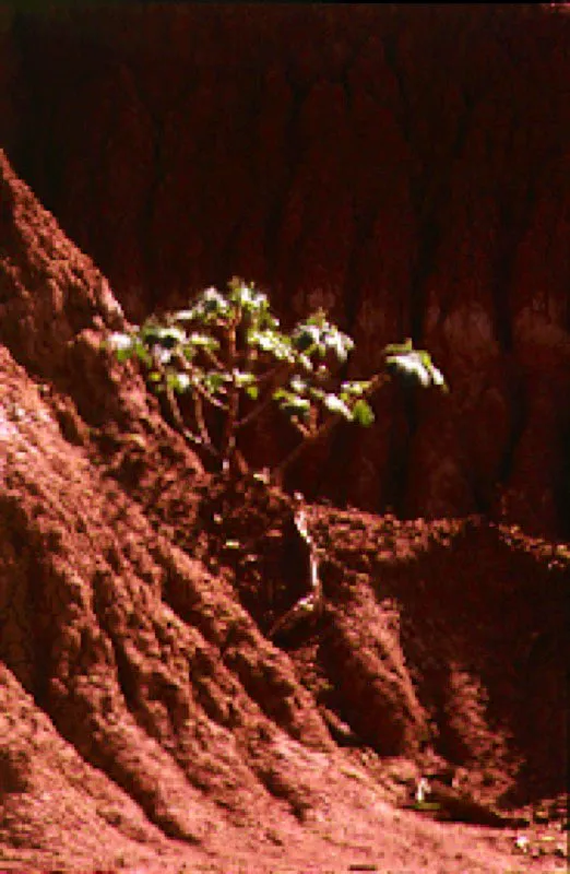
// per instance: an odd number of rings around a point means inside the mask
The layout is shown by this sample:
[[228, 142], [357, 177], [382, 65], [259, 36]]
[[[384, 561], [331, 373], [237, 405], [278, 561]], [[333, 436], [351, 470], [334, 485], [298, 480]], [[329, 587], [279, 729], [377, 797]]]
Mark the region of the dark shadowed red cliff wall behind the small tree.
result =
[[569, 15], [93, 5], [0, 39], [2, 145], [129, 317], [240, 273], [326, 306], [355, 375], [407, 335], [448, 375], [378, 397], [308, 494], [568, 536]]

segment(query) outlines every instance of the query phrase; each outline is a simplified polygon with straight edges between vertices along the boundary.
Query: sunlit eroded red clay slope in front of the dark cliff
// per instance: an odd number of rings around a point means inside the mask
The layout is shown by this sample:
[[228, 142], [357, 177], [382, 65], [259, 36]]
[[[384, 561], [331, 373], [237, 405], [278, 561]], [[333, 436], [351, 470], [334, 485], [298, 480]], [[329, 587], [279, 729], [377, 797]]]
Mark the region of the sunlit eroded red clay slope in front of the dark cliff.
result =
[[307, 503], [271, 639], [292, 498], [204, 472], [0, 168], [0, 871], [562, 871], [568, 544]]

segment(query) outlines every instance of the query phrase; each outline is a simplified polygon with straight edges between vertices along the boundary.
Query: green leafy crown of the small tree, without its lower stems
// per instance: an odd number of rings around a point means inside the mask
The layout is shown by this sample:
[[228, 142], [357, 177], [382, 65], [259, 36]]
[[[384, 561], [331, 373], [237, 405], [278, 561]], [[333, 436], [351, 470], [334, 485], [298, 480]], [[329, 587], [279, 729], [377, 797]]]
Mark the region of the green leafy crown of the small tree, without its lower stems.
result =
[[[230, 359], [231, 344], [227, 341], [234, 329], [237, 357]], [[379, 375], [372, 381], [337, 379], [336, 365], [344, 363], [354, 349], [353, 339], [328, 320], [324, 309], [297, 323], [292, 333], [283, 332], [266, 295], [237, 276], [228, 283], [226, 293], [213, 286], [205, 288], [188, 308], [162, 319], [151, 316], [142, 327], [131, 326], [129, 332], [111, 334], [106, 345], [114, 349], [120, 362], [136, 356], [145, 365], [154, 391], [199, 392], [225, 411], [226, 417], [228, 395], [242, 390], [254, 405], [261, 394], [258, 379], [271, 379], [276, 373], [283, 385], [271, 398], [296, 425], [301, 420], [307, 422], [311, 411], [322, 414], [324, 410], [332, 414], [332, 422], [331, 416], [324, 416], [331, 424], [340, 416], [365, 427], [375, 421], [365, 398]], [[211, 354], [214, 351], [216, 355]], [[182, 356], [189, 366], [185, 367]], [[210, 370], [204, 367], [206, 358]], [[237, 362], [242, 370], [234, 367]], [[409, 338], [384, 347], [384, 364], [389, 373], [406, 380], [448, 391], [429, 353], [415, 350]], [[268, 390], [271, 388], [263, 390], [260, 411], [265, 409]], [[233, 426], [230, 417], [226, 424]], [[305, 434], [304, 428], [300, 430]]]

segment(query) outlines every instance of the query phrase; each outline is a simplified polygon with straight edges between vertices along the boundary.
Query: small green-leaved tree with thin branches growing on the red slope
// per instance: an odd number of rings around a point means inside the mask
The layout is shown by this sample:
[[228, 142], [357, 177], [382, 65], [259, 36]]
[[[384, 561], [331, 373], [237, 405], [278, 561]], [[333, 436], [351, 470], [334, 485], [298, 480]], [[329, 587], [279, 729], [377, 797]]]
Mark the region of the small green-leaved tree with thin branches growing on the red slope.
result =
[[[237, 277], [225, 294], [206, 288], [188, 309], [163, 319], [152, 316], [127, 333], [111, 334], [109, 343], [119, 361], [136, 357], [143, 363], [175, 426], [222, 466], [230, 463], [241, 429], [277, 405], [300, 436], [274, 470], [277, 475], [342, 420], [371, 425], [375, 416], [367, 399], [394, 373], [447, 391], [429, 354], [414, 350], [411, 340], [385, 346], [385, 373], [343, 380], [339, 371], [354, 342], [322, 309], [287, 333], [266, 295]], [[187, 393], [193, 421], [187, 421], [178, 403], [178, 395]], [[222, 417], [218, 439], [209, 426], [209, 409]]]

